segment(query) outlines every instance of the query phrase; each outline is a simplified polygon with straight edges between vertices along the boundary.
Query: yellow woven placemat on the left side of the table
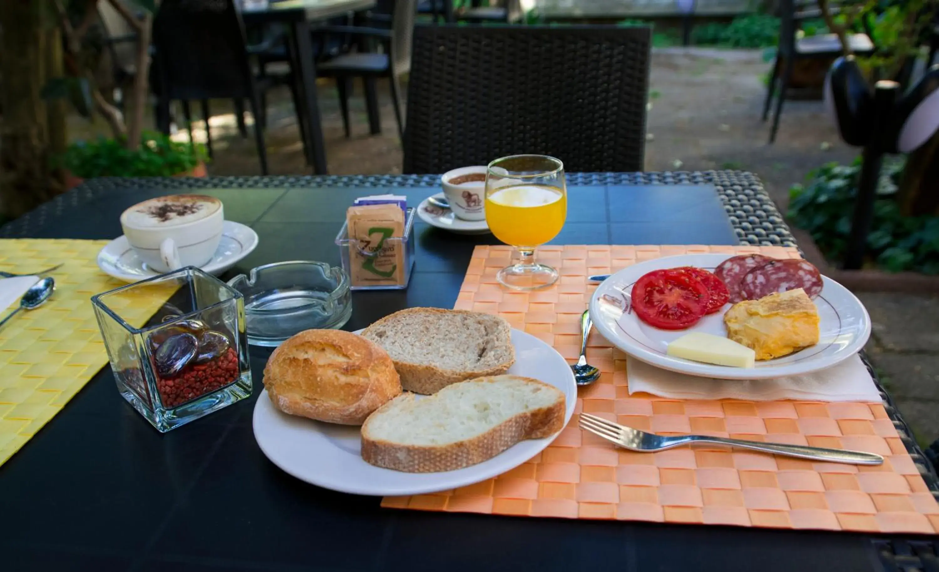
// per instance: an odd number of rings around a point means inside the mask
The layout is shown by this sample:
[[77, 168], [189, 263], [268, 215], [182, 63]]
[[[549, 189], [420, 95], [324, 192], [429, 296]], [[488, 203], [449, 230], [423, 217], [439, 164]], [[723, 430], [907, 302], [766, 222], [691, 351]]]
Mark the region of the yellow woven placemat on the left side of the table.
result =
[[[0, 240], [0, 271], [42, 271], [63, 263], [51, 274], [53, 297], [0, 328], [0, 465], [108, 363], [90, 300], [124, 284], [98, 268], [98, 251], [108, 242]], [[146, 288], [121, 315], [142, 326], [171, 294], [168, 288]]]

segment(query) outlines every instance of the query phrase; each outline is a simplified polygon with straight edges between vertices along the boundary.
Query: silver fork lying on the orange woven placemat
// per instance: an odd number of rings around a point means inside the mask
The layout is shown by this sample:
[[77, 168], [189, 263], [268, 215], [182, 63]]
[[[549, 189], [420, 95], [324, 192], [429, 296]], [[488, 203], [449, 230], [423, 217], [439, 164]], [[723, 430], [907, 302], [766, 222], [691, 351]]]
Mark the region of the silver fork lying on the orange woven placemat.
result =
[[653, 451], [662, 451], [672, 447], [686, 445], [691, 442], [698, 443], [718, 443], [721, 445], [730, 445], [731, 447], [741, 447], [762, 451], [763, 453], [775, 453], [777, 455], [797, 456], [799, 458], [808, 458], [815, 461], [828, 461], [832, 463], [850, 463], [852, 465], [880, 465], [884, 462], [884, 457], [874, 455], [873, 453], [862, 453], [860, 451], [846, 451], [842, 449], [824, 449], [822, 447], [806, 447], [803, 445], [787, 445], [782, 443], [764, 443], [760, 441], [741, 441], [739, 439], [724, 439], [722, 437], [706, 437], [704, 435], [681, 435], [676, 437], [664, 437], [654, 433], [646, 433], [632, 427], [625, 427], [607, 421], [602, 417], [591, 415], [590, 413], [580, 413], [580, 428], [590, 431], [594, 435], [602, 437], [607, 441], [612, 441], [621, 447], [630, 451], [639, 451], [650, 453]]

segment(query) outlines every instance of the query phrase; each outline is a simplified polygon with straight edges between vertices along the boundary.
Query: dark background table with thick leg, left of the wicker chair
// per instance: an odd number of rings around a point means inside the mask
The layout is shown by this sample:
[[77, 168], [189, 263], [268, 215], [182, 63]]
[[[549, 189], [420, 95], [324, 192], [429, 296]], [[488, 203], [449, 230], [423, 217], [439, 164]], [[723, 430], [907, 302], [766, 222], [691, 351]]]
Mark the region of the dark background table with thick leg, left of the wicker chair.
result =
[[301, 99], [305, 107], [297, 114], [297, 120], [306, 124], [300, 125], [300, 129], [308, 134], [304, 152], [307, 162], [322, 175], [327, 173], [326, 145], [323, 143], [323, 126], [316, 97], [316, 65], [310, 30], [314, 23], [374, 6], [375, 0], [284, 0], [241, 12], [246, 25], [283, 23], [290, 29], [287, 46], [290, 69], [300, 73]]

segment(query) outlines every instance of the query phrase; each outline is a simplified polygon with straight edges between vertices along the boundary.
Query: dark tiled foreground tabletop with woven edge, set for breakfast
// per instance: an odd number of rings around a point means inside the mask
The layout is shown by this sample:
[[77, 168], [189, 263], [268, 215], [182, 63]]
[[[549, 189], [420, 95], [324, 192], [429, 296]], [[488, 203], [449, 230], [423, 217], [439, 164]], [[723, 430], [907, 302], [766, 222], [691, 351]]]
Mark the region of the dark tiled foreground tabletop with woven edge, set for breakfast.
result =
[[[436, 192], [436, 180], [97, 179], [3, 226], [0, 237], [113, 238], [123, 209], [186, 190], [218, 196], [226, 218], [258, 232], [260, 245], [239, 270], [294, 258], [335, 264], [332, 240], [353, 197], [395, 187], [416, 205]], [[792, 240], [747, 173], [572, 174], [568, 183], [568, 223], [557, 242]], [[408, 289], [355, 293], [347, 330], [408, 306], [452, 307], [473, 246], [496, 242], [426, 224], [415, 230]], [[302, 483], [261, 454], [251, 418], [268, 356], [251, 349], [251, 399], [165, 435], [122, 401], [104, 368], [0, 467], [0, 487], [17, 492], [0, 501], [0, 569], [854, 572], [939, 564], [932, 538], [382, 510], [377, 498]], [[916, 445], [904, 442], [939, 490]]]

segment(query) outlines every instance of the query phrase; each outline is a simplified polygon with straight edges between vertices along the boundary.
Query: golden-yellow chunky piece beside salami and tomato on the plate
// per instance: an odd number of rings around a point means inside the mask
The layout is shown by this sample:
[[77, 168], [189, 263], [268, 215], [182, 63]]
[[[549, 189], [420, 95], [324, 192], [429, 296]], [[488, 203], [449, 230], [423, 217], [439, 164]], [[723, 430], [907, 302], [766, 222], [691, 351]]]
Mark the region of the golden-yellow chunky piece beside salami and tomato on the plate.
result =
[[819, 342], [819, 312], [806, 291], [796, 288], [760, 300], [737, 302], [724, 315], [727, 337], [772, 360]]

